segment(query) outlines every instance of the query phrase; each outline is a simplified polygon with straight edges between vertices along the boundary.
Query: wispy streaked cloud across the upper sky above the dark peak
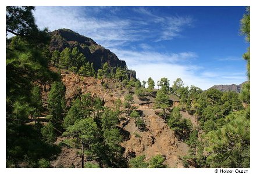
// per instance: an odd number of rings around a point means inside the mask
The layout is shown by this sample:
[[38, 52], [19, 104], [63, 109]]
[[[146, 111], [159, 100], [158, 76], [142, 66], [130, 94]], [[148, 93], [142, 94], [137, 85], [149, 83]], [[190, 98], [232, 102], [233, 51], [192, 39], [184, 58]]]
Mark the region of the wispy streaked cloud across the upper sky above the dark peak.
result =
[[145, 39], [170, 40], [179, 36], [183, 28], [190, 26], [193, 21], [191, 17], [162, 17], [145, 8], [133, 9], [143, 15], [122, 18], [116, 15], [122, 7], [100, 6], [38, 6], [34, 14], [41, 28], [70, 28], [95, 39], [106, 48], [129, 45]]

